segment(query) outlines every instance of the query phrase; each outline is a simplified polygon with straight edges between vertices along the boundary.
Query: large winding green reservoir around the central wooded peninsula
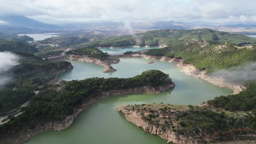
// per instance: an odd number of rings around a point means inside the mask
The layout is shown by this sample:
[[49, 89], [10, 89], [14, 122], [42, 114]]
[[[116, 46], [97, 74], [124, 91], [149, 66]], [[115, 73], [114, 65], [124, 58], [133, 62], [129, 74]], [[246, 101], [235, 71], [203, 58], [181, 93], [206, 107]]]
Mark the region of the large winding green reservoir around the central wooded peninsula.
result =
[[63, 80], [82, 80], [88, 77], [132, 77], [149, 69], [159, 69], [170, 75], [176, 87], [160, 94], [129, 94], [110, 97], [92, 104], [75, 119], [72, 126], [63, 131], [45, 131], [27, 143], [88, 143], [88, 144], [164, 144], [166, 140], [144, 132], [141, 128], [126, 121], [116, 111], [119, 105], [170, 103], [178, 105], [198, 105], [202, 101], [219, 95], [231, 94], [231, 89], [219, 88], [201, 79], [187, 76], [174, 63], [156, 62], [147, 64], [142, 58], [121, 58], [113, 67], [118, 71], [102, 73], [103, 67], [87, 62], [72, 61], [73, 70], [59, 75]]

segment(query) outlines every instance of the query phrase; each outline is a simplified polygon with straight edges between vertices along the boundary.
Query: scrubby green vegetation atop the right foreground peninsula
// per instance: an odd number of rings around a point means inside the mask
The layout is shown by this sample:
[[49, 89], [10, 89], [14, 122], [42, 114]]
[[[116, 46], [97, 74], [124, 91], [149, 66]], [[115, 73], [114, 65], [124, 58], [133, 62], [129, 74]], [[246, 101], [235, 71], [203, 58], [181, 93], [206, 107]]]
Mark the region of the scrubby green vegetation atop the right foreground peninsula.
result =
[[139, 112], [141, 121], [155, 125], [162, 131], [173, 131], [202, 141], [203, 139], [218, 141], [231, 135], [253, 134], [256, 129], [255, 113], [163, 103], [127, 105], [125, 109]]

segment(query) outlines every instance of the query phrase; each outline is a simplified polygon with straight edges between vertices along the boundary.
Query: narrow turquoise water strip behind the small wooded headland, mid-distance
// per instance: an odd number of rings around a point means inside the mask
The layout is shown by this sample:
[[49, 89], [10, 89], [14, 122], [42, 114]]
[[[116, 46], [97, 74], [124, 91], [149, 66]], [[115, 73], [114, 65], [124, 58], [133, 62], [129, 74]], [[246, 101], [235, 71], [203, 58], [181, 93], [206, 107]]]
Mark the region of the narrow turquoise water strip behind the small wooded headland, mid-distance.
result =
[[124, 53], [126, 51], [142, 51], [142, 50], [148, 50], [148, 49], [159, 49], [159, 47], [124, 47], [123, 49], [110, 49], [109, 47], [106, 48], [100, 48], [103, 52], [110, 53]]

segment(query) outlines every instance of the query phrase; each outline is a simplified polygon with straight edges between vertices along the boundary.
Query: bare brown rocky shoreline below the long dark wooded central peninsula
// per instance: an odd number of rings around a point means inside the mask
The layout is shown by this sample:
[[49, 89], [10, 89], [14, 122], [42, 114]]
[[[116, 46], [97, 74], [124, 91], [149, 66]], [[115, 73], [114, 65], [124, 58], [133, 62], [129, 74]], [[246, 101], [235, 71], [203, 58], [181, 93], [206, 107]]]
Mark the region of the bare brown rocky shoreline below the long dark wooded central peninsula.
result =
[[24, 125], [19, 133], [8, 131], [7, 135], [0, 137], [0, 144], [7, 143], [24, 143], [27, 142], [32, 136], [37, 135], [43, 131], [61, 131], [65, 130], [72, 125], [74, 119], [83, 112], [89, 105], [96, 103], [98, 100], [124, 94], [138, 94], [138, 93], [161, 93], [175, 86], [173, 82], [170, 85], [159, 87], [138, 87], [111, 91], [97, 91], [88, 96], [88, 99], [75, 109], [73, 115], [67, 116], [63, 121], [56, 122], [37, 122]]

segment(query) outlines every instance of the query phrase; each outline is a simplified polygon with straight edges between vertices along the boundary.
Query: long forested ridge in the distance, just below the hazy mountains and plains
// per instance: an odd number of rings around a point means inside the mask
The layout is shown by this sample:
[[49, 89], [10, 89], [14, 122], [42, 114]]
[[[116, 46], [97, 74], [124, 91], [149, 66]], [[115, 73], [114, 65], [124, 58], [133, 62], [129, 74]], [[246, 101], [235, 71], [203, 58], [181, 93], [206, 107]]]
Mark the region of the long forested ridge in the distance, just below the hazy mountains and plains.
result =
[[208, 41], [214, 44], [247, 44], [256, 43], [256, 38], [247, 37], [241, 34], [232, 34], [228, 32], [213, 31], [208, 28], [203, 29], [161, 29], [156, 31], [148, 31], [145, 33], [138, 33], [135, 35], [122, 35], [108, 37], [105, 39], [89, 41], [80, 45], [90, 46], [158, 46], [168, 45], [174, 46], [181, 43], [187, 43], [191, 39], [197, 39], [201, 41]]

